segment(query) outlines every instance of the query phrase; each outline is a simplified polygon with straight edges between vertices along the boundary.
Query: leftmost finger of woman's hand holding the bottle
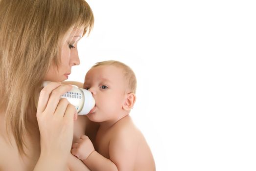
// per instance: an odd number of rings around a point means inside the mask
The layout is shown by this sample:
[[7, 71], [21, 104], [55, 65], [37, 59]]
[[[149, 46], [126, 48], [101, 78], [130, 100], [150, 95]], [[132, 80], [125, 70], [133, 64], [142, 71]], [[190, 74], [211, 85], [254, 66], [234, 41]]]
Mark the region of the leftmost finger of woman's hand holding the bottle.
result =
[[60, 85], [60, 82], [51, 82], [41, 90], [37, 105], [38, 113], [43, 113], [45, 111], [52, 90], [56, 89]]

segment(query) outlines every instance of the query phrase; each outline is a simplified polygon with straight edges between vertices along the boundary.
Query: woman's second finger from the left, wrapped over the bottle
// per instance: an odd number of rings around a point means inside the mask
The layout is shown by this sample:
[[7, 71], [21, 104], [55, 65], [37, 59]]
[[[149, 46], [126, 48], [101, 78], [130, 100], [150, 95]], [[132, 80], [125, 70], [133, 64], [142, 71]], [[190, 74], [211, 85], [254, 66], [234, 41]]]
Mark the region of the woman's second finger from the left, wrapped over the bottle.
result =
[[59, 104], [61, 95], [70, 91], [71, 88], [71, 85], [60, 85], [56, 89], [52, 90], [45, 111], [47, 113], [54, 113]]

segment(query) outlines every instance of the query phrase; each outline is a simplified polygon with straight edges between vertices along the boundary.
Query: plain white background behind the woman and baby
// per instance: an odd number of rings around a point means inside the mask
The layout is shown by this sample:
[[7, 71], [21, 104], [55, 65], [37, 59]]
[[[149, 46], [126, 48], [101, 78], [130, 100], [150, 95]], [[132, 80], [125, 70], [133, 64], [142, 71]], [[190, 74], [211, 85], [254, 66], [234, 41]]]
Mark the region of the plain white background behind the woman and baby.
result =
[[157, 171], [256, 171], [254, 1], [87, 1], [95, 24], [69, 80], [103, 60], [132, 67]]

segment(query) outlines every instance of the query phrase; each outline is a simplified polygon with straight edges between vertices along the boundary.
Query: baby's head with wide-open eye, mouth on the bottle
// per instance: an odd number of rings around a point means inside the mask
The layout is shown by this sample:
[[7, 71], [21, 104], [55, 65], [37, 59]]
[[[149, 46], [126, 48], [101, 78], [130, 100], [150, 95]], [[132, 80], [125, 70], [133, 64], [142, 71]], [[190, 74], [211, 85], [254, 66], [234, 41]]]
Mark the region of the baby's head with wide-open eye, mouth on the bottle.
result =
[[94, 64], [84, 83], [84, 88], [92, 92], [96, 102], [88, 118], [104, 122], [128, 115], [136, 100], [136, 86], [136, 76], [126, 64], [118, 61]]

